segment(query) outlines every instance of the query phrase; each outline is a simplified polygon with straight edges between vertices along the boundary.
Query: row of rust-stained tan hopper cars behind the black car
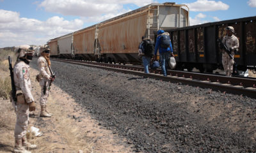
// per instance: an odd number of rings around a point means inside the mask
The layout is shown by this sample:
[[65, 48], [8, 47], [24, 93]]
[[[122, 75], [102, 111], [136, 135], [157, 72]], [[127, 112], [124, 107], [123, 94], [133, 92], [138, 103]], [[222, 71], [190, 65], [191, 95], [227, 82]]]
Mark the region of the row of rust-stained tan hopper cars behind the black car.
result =
[[189, 25], [189, 8], [184, 4], [152, 3], [49, 40], [52, 57], [104, 62], [138, 63], [141, 36], [154, 40], [157, 29]]

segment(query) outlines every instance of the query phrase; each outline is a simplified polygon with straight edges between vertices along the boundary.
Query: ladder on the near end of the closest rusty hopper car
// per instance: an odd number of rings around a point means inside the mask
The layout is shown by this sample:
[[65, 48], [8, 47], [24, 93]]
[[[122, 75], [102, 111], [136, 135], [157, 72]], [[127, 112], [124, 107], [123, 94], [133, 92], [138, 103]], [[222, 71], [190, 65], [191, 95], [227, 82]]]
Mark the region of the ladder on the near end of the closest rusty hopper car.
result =
[[[151, 10], [153, 11], [153, 15], [150, 15]], [[157, 12], [155, 15], [155, 11]], [[156, 20], [154, 20], [156, 18]], [[157, 24], [156, 27], [153, 27], [154, 24]], [[159, 5], [151, 8], [151, 5], [148, 6], [148, 20], [147, 20], [147, 30], [148, 30], [148, 38], [154, 40], [154, 31], [159, 29]], [[151, 33], [150, 33], [151, 32]]]

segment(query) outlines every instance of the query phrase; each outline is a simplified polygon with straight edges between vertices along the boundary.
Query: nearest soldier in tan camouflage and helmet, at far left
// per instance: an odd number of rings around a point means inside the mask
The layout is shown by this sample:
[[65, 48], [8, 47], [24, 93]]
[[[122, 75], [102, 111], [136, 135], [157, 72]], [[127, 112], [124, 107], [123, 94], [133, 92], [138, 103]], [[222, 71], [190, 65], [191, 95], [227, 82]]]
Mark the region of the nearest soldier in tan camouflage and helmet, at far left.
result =
[[35, 99], [31, 94], [31, 82], [29, 79], [29, 61], [33, 58], [33, 48], [29, 45], [21, 45], [17, 48], [17, 55], [18, 59], [13, 68], [13, 80], [17, 90], [16, 105], [12, 99], [13, 106], [17, 108], [14, 152], [29, 153], [28, 149], [36, 149], [36, 145], [31, 145], [26, 139], [29, 111], [34, 111], [36, 106]]

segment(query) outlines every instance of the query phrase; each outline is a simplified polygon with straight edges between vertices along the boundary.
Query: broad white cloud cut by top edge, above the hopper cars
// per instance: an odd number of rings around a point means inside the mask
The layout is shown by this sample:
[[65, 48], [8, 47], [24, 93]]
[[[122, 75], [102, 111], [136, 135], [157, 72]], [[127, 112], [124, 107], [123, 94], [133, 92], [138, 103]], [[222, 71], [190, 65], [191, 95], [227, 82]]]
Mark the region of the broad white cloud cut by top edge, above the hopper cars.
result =
[[79, 16], [84, 22], [102, 22], [128, 11], [124, 4], [145, 6], [153, 0], [44, 0], [38, 6], [61, 15]]

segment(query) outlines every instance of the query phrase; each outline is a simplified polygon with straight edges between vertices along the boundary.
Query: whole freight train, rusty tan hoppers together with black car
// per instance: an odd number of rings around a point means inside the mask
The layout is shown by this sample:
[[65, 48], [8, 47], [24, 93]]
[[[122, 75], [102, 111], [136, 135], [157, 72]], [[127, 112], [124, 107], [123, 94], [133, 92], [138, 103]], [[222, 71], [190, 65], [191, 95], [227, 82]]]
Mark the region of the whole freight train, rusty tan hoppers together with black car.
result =
[[212, 72], [221, 68], [218, 38], [225, 27], [235, 28], [239, 39], [236, 68], [256, 68], [256, 17], [237, 18], [189, 26], [189, 8], [184, 4], [152, 3], [118, 17], [47, 41], [51, 57], [98, 62], [141, 63], [141, 36], [156, 40], [157, 29], [170, 33], [177, 69]]

